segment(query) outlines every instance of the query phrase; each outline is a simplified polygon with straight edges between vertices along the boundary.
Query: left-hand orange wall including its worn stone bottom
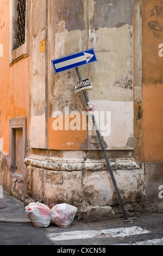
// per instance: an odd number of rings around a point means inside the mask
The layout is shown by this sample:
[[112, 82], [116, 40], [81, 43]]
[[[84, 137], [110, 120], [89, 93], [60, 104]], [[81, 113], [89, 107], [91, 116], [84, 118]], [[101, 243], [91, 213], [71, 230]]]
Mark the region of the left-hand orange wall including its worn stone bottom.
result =
[[[19, 170], [12, 167], [11, 158], [15, 155], [9, 154], [9, 133], [10, 119], [26, 117], [27, 136], [29, 135], [29, 57], [22, 58], [10, 66], [10, 1], [0, 2], [0, 15], [0, 43], [3, 45], [3, 57], [0, 57], [0, 184], [3, 185], [4, 191], [12, 191], [14, 196], [22, 200], [26, 193], [26, 180]], [[23, 148], [21, 150], [23, 151]], [[24, 157], [21, 161], [23, 164]]]

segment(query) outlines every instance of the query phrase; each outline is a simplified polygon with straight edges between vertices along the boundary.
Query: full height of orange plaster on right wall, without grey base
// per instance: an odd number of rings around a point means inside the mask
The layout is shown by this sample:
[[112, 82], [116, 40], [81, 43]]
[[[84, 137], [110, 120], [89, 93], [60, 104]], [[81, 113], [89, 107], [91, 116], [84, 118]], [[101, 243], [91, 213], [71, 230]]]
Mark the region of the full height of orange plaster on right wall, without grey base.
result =
[[142, 1], [142, 159], [163, 161], [163, 1]]

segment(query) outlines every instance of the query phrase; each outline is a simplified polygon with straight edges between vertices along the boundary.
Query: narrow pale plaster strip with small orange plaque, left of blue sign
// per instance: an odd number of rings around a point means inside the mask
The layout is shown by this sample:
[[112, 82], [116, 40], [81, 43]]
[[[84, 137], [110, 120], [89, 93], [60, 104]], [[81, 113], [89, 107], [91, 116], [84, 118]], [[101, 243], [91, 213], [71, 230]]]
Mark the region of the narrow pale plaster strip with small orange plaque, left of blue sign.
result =
[[[40, 8], [41, 6], [41, 8]], [[46, 148], [46, 1], [32, 1], [30, 14], [30, 147]]]

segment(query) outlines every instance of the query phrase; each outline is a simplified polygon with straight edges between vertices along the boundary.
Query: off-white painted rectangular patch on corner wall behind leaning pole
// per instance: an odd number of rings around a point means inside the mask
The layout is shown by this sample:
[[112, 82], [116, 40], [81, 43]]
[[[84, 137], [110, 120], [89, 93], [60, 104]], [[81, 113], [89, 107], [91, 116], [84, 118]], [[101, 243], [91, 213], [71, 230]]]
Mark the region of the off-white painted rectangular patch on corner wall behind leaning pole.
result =
[[[95, 100], [93, 103], [95, 103], [96, 111], [99, 113], [96, 120], [103, 136], [105, 149], [132, 149], [134, 147], [133, 102]], [[106, 113], [104, 114], [104, 112]], [[91, 122], [91, 118], [89, 122]], [[88, 149], [101, 149], [95, 129], [89, 131]]]

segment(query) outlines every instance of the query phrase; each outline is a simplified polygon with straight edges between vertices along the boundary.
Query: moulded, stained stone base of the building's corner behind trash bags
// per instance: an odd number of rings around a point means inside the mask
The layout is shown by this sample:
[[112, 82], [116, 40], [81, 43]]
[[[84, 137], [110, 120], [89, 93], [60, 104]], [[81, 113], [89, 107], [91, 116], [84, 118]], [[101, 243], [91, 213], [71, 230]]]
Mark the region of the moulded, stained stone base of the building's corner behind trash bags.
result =
[[[45, 204], [67, 203], [78, 208], [86, 222], [121, 216], [122, 211], [104, 160], [26, 158], [27, 194]], [[133, 159], [110, 161], [128, 214], [140, 212], [143, 171]]]

